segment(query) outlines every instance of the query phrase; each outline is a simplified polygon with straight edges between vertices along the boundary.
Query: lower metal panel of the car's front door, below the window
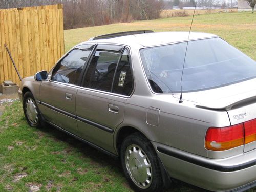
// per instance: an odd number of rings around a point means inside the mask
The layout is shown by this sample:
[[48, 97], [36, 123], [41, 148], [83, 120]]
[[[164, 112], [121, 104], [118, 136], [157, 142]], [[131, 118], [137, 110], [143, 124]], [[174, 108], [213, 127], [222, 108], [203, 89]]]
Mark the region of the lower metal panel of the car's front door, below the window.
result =
[[40, 86], [39, 109], [46, 120], [77, 134], [76, 92], [77, 86], [65, 83], [43, 81]]

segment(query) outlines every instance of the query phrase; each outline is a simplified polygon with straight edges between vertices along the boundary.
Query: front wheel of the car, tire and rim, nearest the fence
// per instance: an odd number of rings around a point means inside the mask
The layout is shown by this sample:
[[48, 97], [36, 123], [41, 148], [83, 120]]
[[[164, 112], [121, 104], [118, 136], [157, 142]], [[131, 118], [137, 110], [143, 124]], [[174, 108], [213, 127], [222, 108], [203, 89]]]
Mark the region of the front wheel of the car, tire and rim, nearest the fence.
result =
[[23, 112], [30, 126], [39, 128], [45, 125], [44, 119], [35, 102], [35, 98], [29, 91], [23, 96]]

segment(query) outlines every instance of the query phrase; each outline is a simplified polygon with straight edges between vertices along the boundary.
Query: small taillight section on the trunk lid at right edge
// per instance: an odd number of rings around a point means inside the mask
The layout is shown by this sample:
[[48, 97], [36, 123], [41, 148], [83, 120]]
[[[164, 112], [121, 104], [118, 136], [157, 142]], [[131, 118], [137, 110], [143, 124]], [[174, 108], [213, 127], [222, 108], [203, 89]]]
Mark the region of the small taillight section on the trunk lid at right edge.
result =
[[245, 141], [244, 144], [256, 141], [256, 119], [244, 123]]

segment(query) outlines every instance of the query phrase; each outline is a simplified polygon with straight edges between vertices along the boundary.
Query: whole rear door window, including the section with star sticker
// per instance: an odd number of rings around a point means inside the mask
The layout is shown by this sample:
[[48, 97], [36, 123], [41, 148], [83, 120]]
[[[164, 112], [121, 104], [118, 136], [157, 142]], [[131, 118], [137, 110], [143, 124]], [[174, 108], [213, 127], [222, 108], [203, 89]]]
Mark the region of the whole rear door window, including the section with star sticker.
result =
[[88, 67], [83, 86], [129, 95], [133, 87], [129, 51], [126, 48], [119, 50], [96, 49]]

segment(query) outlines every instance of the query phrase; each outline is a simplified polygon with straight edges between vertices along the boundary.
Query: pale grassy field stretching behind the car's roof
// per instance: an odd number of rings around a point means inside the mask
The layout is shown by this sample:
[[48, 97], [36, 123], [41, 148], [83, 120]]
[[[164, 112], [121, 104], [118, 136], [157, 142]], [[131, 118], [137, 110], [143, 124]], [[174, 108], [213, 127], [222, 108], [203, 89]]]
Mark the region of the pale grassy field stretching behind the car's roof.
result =
[[[91, 37], [132, 30], [189, 31], [191, 16], [65, 30], [65, 50]], [[250, 12], [196, 15], [192, 31], [217, 34], [256, 60], [256, 14]]]

